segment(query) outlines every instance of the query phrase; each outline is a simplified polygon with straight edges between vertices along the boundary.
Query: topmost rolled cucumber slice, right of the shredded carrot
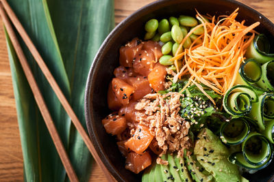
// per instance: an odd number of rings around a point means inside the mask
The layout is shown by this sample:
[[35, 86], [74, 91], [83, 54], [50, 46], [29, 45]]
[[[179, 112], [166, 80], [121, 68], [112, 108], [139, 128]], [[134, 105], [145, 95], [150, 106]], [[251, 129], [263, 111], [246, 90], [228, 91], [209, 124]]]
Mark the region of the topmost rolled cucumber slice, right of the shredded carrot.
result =
[[269, 40], [264, 34], [256, 35], [253, 42], [247, 48], [245, 56], [253, 58], [258, 63], [266, 63], [274, 59], [274, 54], [269, 54], [270, 44]]

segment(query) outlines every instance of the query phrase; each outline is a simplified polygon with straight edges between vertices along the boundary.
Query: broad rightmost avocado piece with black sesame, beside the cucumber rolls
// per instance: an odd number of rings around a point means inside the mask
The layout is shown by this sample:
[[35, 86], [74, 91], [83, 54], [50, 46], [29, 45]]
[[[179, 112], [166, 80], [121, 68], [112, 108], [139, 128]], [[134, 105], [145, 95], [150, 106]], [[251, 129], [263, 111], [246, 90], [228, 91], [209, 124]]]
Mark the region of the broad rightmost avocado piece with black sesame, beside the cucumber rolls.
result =
[[197, 137], [194, 154], [215, 181], [240, 181], [238, 168], [227, 160], [229, 152], [221, 140], [207, 128], [201, 130]]

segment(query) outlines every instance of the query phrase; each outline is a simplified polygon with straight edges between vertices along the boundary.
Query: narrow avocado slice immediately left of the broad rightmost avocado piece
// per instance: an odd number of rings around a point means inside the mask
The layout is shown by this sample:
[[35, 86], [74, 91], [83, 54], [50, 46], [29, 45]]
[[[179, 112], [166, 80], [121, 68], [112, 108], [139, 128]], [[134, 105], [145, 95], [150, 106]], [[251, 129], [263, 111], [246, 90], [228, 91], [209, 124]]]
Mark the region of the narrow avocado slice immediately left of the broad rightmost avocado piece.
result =
[[186, 166], [188, 168], [188, 171], [190, 172], [190, 175], [193, 180], [195, 181], [212, 181], [212, 175], [208, 174], [205, 175], [203, 172], [205, 172], [204, 168], [201, 168], [198, 166], [197, 160], [195, 159], [194, 155], [185, 155], [186, 159]]

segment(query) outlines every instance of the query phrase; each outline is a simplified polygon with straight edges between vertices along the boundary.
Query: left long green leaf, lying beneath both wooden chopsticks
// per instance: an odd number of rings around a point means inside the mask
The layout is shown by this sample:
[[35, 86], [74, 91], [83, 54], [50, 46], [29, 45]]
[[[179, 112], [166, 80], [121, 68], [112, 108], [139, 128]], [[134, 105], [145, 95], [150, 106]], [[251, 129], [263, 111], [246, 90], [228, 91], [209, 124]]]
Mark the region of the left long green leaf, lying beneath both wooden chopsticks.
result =
[[[58, 85], [60, 85], [66, 97], [69, 98], [71, 95], [69, 79], [66, 75], [60, 49], [49, 16], [49, 10], [47, 10], [47, 2], [40, 0], [10, 0], [8, 2], [29, 37], [36, 45], [40, 55], [45, 60], [55, 80], [57, 80]], [[45, 98], [45, 102], [60, 137], [64, 145], [68, 147], [71, 120], [66, 115], [58, 98], [22, 40], [21, 46], [32, 68], [36, 82], [38, 82], [40, 91]], [[18, 60], [14, 59], [14, 62], [15, 61], [18, 65]], [[15, 67], [14, 69], [17, 68], [18, 67]], [[13, 72], [16, 71], [14, 70]], [[25, 76], [21, 73], [20, 77], [24, 78]], [[25, 80], [18, 80], [18, 77], [13, 76], [13, 80], [16, 83], [20, 82], [20, 85], [28, 85]], [[32, 95], [29, 89], [22, 91], [21, 86], [18, 87], [18, 89], [18, 93], [24, 92]], [[19, 126], [25, 126], [20, 127], [25, 179], [27, 179], [27, 181], [64, 181], [66, 177], [64, 167], [49, 136], [47, 127], [42, 117], [40, 117], [40, 112], [38, 111], [35, 101], [25, 97], [28, 95], [17, 95], [16, 92], [14, 93], [16, 100], [22, 100], [20, 104], [17, 104], [17, 112]], [[24, 109], [25, 105], [27, 105], [27, 110]], [[19, 117], [20, 115], [26, 115], [26, 117]], [[25, 123], [29, 123], [29, 125], [25, 125]], [[35, 139], [29, 140], [29, 138], [25, 138], [25, 136], [28, 135]], [[36, 142], [34, 142], [34, 140]], [[29, 147], [29, 145], [32, 147]], [[29, 153], [35, 153], [36, 155], [29, 155]]]

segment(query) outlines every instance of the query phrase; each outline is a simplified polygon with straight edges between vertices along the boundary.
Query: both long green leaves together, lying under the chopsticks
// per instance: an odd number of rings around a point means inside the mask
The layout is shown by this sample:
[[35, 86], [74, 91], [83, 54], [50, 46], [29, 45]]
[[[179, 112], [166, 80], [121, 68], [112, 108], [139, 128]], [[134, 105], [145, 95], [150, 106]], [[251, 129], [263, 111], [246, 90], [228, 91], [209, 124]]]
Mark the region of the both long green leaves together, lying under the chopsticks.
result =
[[[114, 25], [113, 1], [8, 2], [71, 102], [77, 117], [85, 125], [86, 77], [97, 49]], [[40, 116], [8, 35], [6, 37], [21, 133], [25, 180], [64, 181], [66, 175], [58, 153]], [[69, 149], [75, 171], [81, 181], [86, 181], [91, 166], [88, 149], [22, 41], [21, 45], [62, 141]]]

